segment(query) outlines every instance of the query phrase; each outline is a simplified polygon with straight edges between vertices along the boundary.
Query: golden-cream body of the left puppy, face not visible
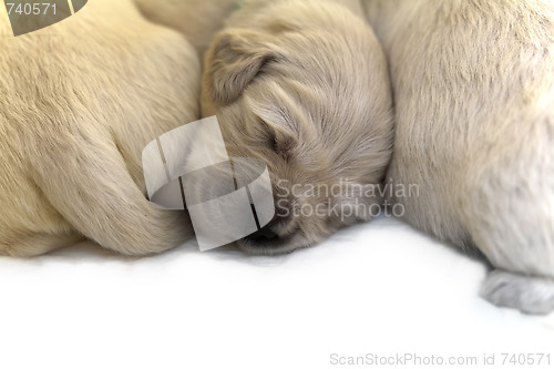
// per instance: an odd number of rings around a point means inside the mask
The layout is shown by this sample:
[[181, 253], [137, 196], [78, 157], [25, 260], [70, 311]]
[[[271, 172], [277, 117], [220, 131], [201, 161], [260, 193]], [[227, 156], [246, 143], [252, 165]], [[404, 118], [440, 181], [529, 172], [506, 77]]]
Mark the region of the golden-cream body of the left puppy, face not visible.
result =
[[144, 196], [142, 148], [199, 116], [199, 61], [127, 0], [14, 38], [0, 7], [0, 254], [88, 237], [127, 255], [192, 235]]

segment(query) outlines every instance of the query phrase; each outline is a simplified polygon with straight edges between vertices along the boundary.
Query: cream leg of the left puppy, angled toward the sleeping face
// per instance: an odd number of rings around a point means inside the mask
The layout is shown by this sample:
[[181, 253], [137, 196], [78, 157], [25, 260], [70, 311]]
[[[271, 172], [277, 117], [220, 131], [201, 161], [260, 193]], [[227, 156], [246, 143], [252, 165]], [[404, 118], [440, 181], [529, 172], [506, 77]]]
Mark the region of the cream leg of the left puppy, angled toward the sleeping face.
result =
[[[193, 235], [185, 212], [148, 203], [107, 132], [79, 131], [41, 147], [34, 181], [80, 233], [125, 255], [161, 253]], [[45, 140], [43, 142], [53, 142]]]

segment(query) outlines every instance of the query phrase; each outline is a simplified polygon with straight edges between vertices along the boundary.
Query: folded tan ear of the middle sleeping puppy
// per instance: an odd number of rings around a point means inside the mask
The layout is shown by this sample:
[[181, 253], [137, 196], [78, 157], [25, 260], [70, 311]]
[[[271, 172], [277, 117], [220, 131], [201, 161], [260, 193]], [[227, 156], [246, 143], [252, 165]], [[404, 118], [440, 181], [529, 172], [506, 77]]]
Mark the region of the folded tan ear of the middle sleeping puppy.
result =
[[229, 29], [214, 38], [204, 84], [217, 104], [234, 102], [269, 61], [281, 55], [270, 34]]

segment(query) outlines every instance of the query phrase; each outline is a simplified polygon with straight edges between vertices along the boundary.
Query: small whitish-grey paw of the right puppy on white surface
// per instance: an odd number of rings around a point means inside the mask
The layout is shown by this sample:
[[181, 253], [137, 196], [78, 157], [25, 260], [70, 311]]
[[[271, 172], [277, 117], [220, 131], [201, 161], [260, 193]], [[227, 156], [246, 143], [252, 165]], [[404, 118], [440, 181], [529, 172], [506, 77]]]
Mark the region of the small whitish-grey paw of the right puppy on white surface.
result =
[[494, 270], [483, 283], [481, 297], [502, 307], [525, 314], [548, 314], [554, 310], [554, 280]]

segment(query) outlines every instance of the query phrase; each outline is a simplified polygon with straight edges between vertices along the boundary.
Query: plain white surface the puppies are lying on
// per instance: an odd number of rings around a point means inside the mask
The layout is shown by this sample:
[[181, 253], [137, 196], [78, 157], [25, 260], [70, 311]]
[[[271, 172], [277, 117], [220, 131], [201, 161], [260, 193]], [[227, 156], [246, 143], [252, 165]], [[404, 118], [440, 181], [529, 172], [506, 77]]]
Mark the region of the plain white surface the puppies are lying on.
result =
[[142, 259], [92, 245], [0, 258], [0, 368], [339, 368], [331, 353], [404, 352], [475, 356], [473, 368], [543, 352], [553, 366], [554, 316], [490, 306], [484, 276], [384, 218], [280, 257], [189, 242]]

